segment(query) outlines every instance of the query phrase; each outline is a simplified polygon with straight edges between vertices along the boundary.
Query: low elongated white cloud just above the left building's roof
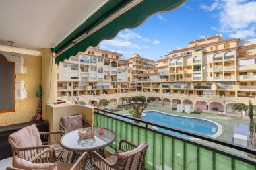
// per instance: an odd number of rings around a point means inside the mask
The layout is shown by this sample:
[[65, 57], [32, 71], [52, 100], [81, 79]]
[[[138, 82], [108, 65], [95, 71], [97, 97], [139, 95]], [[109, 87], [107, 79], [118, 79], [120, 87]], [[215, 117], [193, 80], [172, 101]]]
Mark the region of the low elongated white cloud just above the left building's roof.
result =
[[138, 44], [133, 44], [127, 40], [115, 39], [115, 40], [104, 40], [100, 43], [100, 46], [116, 46], [116, 47], [129, 47], [141, 49]]

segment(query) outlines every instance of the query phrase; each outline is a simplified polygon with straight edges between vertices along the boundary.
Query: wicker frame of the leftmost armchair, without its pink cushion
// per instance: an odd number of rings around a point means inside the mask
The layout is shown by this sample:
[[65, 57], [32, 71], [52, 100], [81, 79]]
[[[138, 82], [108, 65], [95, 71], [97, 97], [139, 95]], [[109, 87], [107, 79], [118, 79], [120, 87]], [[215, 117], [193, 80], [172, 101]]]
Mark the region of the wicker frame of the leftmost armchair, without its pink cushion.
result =
[[21, 159], [30, 161], [34, 159], [34, 157], [42, 153], [42, 151], [44, 151], [46, 148], [50, 148], [53, 152], [52, 154], [53, 157], [49, 157], [49, 160], [63, 161], [62, 155], [63, 155], [64, 149], [60, 146], [59, 140], [65, 134], [65, 132], [63, 131], [40, 132], [39, 134], [42, 140], [41, 146], [32, 146], [32, 147], [24, 147], [24, 148], [18, 147], [17, 144], [15, 144], [15, 142], [9, 136], [8, 138], [9, 144], [11, 144], [11, 148], [13, 151], [13, 164], [15, 161], [15, 157], [20, 157]]

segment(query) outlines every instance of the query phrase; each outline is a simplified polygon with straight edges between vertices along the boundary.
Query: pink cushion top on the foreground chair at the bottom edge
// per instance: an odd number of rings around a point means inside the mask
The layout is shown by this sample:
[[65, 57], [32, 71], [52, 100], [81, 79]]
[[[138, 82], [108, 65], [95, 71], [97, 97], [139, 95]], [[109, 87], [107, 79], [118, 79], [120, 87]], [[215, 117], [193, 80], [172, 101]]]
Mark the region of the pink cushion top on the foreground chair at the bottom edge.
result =
[[17, 158], [14, 162], [14, 167], [19, 169], [44, 169], [44, 170], [57, 170], [57, 163], [31, 163], [24, 159]]

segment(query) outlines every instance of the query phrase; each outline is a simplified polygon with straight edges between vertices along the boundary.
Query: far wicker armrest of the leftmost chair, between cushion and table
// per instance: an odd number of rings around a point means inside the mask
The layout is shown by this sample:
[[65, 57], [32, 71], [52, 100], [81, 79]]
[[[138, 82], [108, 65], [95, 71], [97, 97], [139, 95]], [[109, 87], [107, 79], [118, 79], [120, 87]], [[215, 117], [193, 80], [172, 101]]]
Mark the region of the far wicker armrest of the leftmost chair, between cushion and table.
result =
[[53, 132], [40, 132], [40, 137], [43, 145], [51, 145], [59, 143], [61, 137], [65, 134], [65, 132], [53, 131]]

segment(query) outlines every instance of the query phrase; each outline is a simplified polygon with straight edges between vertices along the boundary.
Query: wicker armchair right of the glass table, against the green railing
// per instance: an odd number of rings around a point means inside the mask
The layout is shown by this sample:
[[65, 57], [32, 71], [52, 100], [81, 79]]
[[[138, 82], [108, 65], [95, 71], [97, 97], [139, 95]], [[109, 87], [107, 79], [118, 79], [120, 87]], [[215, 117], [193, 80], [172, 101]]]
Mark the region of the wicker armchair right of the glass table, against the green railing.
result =
[[[119, 150], [114, 155], [104, 159], [96, 151], [92, 151], [91, 163], [100, 170], [140, 170], [144, 169], [144, 159], [146, 155], [146, 149], [148, 144], [143, 142], [139, 146], [128, 142], [127, 140], [121, 140], [119, 142]], [[123, 153], [123, 157], [118, 159], [119, 154]]]

